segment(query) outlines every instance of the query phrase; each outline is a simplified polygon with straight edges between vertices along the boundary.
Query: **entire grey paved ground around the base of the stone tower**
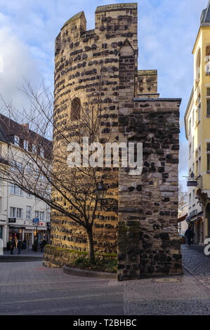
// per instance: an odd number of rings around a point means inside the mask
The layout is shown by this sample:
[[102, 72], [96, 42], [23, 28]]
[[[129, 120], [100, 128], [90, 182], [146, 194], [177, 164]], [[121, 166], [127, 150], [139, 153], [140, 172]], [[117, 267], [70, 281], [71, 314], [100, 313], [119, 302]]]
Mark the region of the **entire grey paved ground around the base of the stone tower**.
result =
[[209, 315], [209, 258], [183, 246], [183, 265], [183, 276], [117, 282], [1, 263], [0, 315]]

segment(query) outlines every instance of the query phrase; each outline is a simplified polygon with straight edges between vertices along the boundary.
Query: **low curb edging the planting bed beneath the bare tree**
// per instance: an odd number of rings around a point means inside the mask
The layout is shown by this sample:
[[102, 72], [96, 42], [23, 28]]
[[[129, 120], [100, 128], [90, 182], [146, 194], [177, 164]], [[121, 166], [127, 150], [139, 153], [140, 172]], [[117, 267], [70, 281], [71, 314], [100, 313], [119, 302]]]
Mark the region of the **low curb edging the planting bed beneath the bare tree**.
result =
[[117, 274], [112, 272], [95, 272], [94, 270], [79, 270], [77, 268], [63, 267], [63, 272], [68, 275], [81, 277], [99, 277], [101, 279], [117, 279]]

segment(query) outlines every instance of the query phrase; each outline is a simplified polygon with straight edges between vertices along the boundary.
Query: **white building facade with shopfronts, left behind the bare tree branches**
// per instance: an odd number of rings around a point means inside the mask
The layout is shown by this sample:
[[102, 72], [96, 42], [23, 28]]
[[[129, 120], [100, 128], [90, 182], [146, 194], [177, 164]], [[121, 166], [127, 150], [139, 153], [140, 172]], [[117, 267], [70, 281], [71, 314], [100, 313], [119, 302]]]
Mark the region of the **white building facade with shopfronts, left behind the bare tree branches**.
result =
[[[15, 124], [20, 126], [18, 123]], [[22, 147], [27, 148], [28, 143], [24, 141], [24, 144], [20, 147], [18, 136], [13, 136], [11, 142], [8, 143], [4, 133], [0, 119], [0, 164], [1, 166], [9, 166], [6, 164], [4, 157], [8, 149], [17, 155], [18, 164], [18, 159], [21, 158]], [[33, 152], [33, 150], [31, 151]], [[18, 185], [9, 183], [5, 180], [4, 174], [1, 173], [0, 239], [3, 239], [4, 248], [7, 247], [7, 242], [11, 239], [15, 239], [16, 242], [18, 242], [18, 239], [21, 241], [25, 239], [27, 249], [32, 248], [35, 237], [38, 238], [38, 242], [44, 238], [49, 242], [50, 220], [51, 209], [45, 202], [32, 194], [27, 194]]]

